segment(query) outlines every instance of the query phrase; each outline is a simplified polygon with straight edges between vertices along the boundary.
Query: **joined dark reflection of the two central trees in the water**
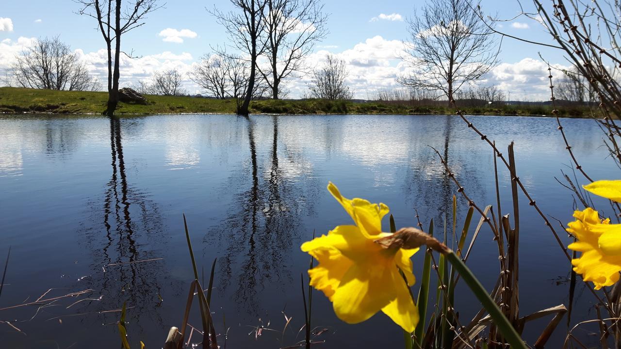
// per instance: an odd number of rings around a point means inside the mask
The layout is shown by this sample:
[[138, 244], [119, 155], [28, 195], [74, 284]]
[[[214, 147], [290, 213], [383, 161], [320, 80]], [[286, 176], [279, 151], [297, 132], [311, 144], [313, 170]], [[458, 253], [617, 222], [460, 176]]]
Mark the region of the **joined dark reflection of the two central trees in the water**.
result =
[[[250, 187], [240, 189], [235, 196], [235, 209], [230, 210], [219, 231], [207, 233], [206, 240], [215, 236], [224, 245], [224, 256], [219, 256], [220, 290], [224, 293], [237, 280], [233, 285], [235, 301], [256, 315], [257, 292], [265, 286], [274, 291], [292, 281], [288, 268], [283, 266], [291, 265], [293, 243], [307, 229], [302, 217], [312, 212], [312, 202], [320, 186], [309, 183], [314, 181], [309, 176], [309, 161], [299, 161], [303, 156], [285, 150], [283, 145], [279, 149], [278, 116], [272, 117], [269, 143], [256, 142], [256, 121], [250, 117], [244, 119], [250, 168], [240, 171], [235, 183], [243, 185], [250, 179]], [[263, 162], [257, 143], [271, 145]]]

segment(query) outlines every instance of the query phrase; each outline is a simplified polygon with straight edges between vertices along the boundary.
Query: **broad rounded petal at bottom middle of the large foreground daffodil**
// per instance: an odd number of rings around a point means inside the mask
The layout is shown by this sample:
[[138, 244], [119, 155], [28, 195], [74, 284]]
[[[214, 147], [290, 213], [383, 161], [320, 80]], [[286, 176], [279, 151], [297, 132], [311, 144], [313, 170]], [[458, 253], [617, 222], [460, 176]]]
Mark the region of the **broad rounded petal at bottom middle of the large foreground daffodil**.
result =
[[386, 265], [374, 261], [349, 268], [332, 297], [334, 312], [339, 319], [358, 324], [394, 299], [392, 274], [386, 268]]

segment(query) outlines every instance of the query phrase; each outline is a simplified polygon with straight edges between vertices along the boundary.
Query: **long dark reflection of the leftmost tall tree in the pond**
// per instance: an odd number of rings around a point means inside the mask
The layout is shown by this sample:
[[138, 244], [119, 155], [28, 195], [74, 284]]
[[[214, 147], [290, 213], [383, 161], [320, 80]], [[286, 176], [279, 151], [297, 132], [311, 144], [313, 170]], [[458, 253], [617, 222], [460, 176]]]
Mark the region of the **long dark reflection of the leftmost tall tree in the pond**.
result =
[[[94, 255], [93, 274], [84, 281], [102, 296], [96, 302], [97, 310], [117, 309], [127, 301], [127, 306], [135, 307], [132, 311], [140, 314], [136, 324], [139, 325], [143, 316], [162, 324], [160, 314], [153, 309], [158, 304], [160, 283], [166, 278], [163, 261], [132, 263], [158, 257], [154, 251], [141, 248], [152, 245], [148, 241], [163, 237], [161, 216], [148, 194], [128, 183], [121, 136], [121, 122], [113, 117], [110, 119], [112, 176], [104, 193], [103, 226], [97, 224], [101, 222], [101, 218], [97, 219], [101, 217], [101, 201], [94, 200], [89, 207], [93, 217], [89, 220], [92, 225], [86, 228], [86, 244]], [[115, 263], [127, 264], [109, 266]], [[110, 321], [116, 321], [117, 314], [109, 316]]]

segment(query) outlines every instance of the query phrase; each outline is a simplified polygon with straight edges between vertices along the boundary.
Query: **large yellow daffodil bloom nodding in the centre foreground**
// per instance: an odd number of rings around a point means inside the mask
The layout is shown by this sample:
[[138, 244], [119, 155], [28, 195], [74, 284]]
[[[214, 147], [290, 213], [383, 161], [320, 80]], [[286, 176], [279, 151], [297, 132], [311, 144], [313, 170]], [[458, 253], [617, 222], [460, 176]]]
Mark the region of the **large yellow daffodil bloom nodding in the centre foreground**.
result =
[[332, 183], [328, 190], [356, 225], [338, 225], [328, 235], [302, 244], [302, 251], [319, 261], [309, 270], [311, 285], [324, 292], [338, 318], [348, 324], [363, 322], [382, 310], [404, 330], [414, 332], [419, 312], [407, 286], [415, 281], [410, 257], [419, 249], [385, 249], [374, 243], [390, 235], [381, 229], [388, 206], [346, 199]]

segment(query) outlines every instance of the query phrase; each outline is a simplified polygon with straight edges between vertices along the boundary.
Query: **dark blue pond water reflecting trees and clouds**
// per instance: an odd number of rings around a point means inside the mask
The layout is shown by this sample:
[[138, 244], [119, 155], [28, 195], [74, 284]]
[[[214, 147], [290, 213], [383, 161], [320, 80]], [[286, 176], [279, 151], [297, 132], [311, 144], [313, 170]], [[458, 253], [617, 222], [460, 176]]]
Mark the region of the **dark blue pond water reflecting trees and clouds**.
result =
[[[574, 176], [556, 120], [470, 119], [501, 148], [513, 140], [520, 179], [533, 198], [545, 214], [571, 220], [573, 198], [555, 180], [561, 170]], [[592, 178], [618, 178], [593, 120], [564, 119], [563, 124]], [[228, 333], [227, 345], [295, 345], [304, 336], [298, 332], [304, 324], [300, 276], [307, 277], [309, 265], [299, 245], [314, 233], [350, 224], [325, 189], [328, 181], [343, 196], [388, 204], [397, 227], [415, 225], [417, 209], [425, 227], [433, 219], [441, 231], [456, 188], [428, 146], [448, 158], [479, 206], [496, 202], [491, 148], [455, 116], [167, 115], [120, 121], [0, 116], [0, 266], [11, 247], [0, 308], [33, 302], [48, 289], [47, 298], [92, 289], [88, 296], [40, 309], [0, 310], [0, 320], [17, 320], [11, 324], [23, 331], [0, 323], [0, 343], [7, 348], [118, 347], [119, 312], [109, 310], [127, 302], [132, 346], [142, 340], [147, 348], [160, 348], [168, 329], [181, 324], [194, 278], [185, 214], [205, 279], [217, 258], [212, 312], [218, 332]], [[500, 176], [502, 204], [508, 208], [509, 174], [503, 168]], [[524, 197], [520, 206], [520, 314], [530, 314], [567, 303], [569, 263]], [[459, 226], [467, 209], [460, 198]], [[471, 231], [476, 222], [475, 215]], [[156, 258], [161, 259], [111, 266]], [[486, 228], [468, 265], [493, 288], [497, 254]], [[422, 253], [417, 253], [415, 274], [421, 269]], [[592, 295], [584, 286], [577, 294], [572, 322], [593, 319]], [[381, 313], [346, 325], [321, 292], [314, 291], [312, 304], [312, 327], [323, 332], [315, 340], [325, 340], [321, 347], [402, 347], [401, 329]], [[479, 310], [463, 285], [455, 307], [462, 322]], [[284, 338], [283, 314], [292, 316]], [[548, 320], [527, 325], [530, 343]], [[200, 327], [196, 312], [190, 324]], [[272, 330], [257, 338], [261, 325]], [[564, 333], [561, 325], [550, 347], [557, 347]], [[587, 342], [592, 337], [587, 331], [577, 335]]]

